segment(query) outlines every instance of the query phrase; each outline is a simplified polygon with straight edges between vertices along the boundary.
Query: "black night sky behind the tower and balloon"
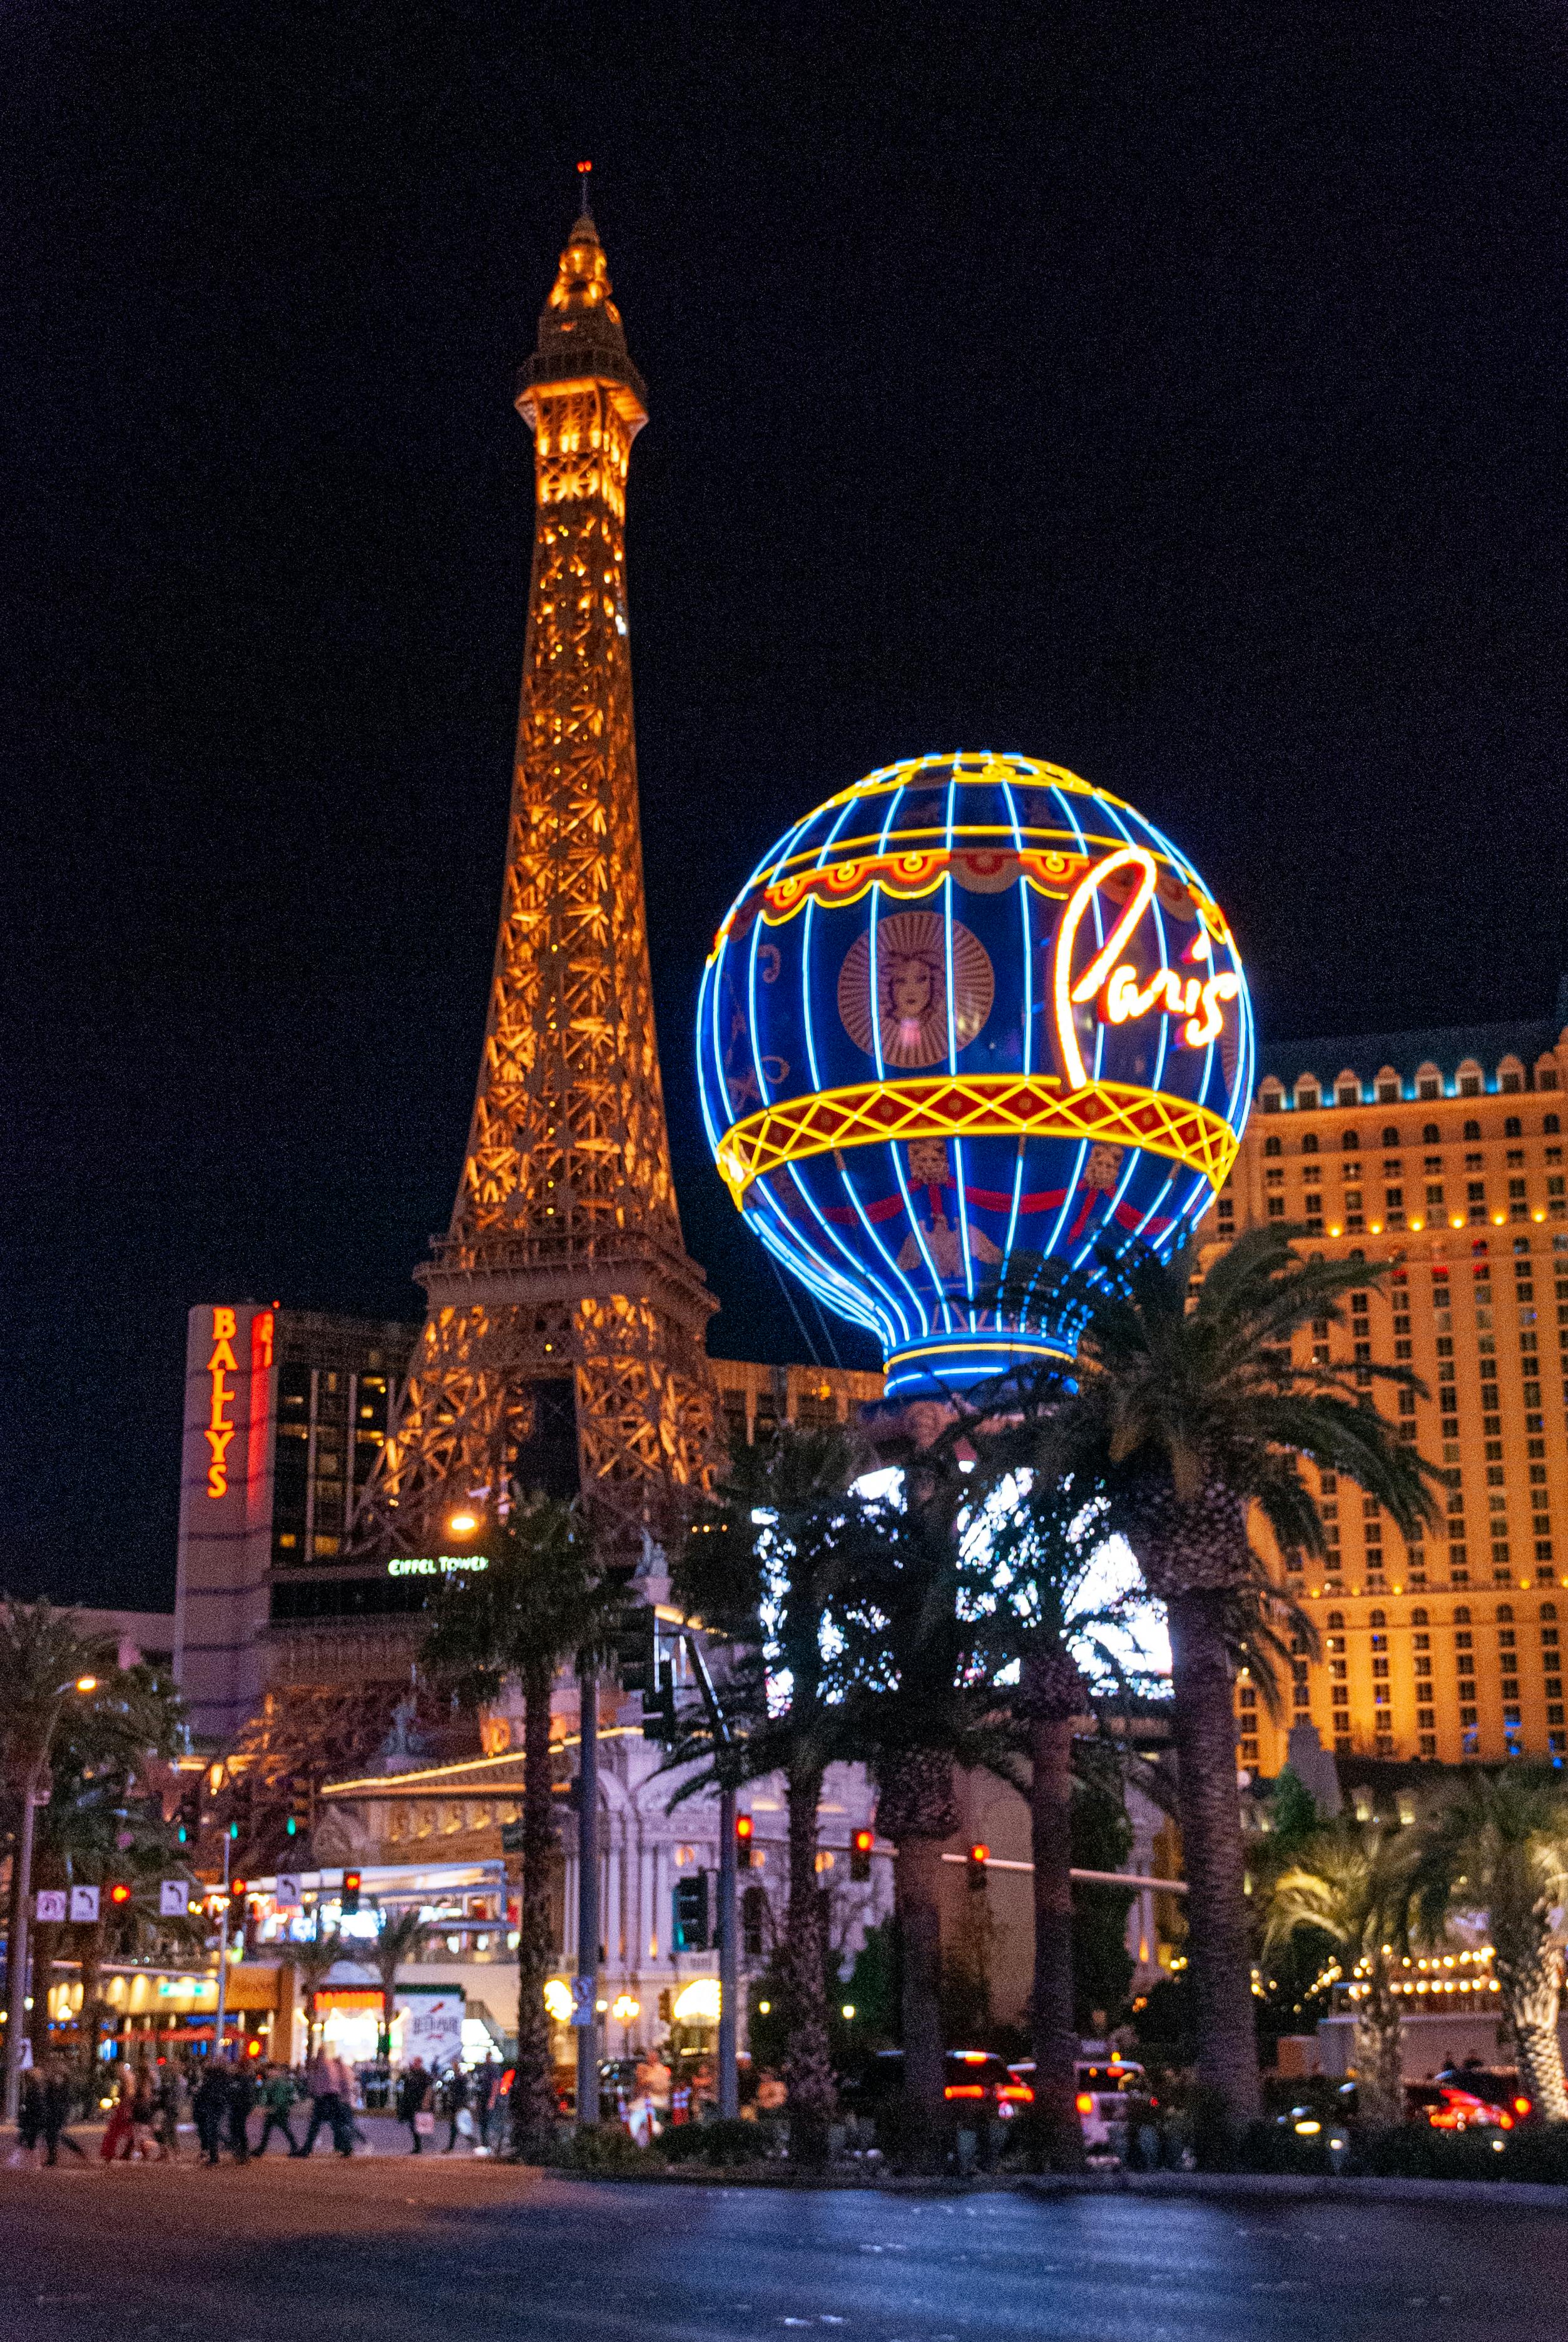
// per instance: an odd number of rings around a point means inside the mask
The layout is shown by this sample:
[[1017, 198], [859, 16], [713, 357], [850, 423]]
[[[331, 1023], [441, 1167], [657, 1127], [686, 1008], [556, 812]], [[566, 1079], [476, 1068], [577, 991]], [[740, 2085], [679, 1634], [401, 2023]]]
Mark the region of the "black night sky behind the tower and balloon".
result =
[[700, 1141], [702, 956], [875, 763], [1133, 799], [1266, 1035], [1545, 1014], [1563, 52], [1507, 0], [16, 0], [0, 1583], [173, 1597], [192, 1302], [419, 1314], [498, 911], [510, 384], [578, 157], [651, 391], [653, 977], [714, 1349], [805, 1354]]

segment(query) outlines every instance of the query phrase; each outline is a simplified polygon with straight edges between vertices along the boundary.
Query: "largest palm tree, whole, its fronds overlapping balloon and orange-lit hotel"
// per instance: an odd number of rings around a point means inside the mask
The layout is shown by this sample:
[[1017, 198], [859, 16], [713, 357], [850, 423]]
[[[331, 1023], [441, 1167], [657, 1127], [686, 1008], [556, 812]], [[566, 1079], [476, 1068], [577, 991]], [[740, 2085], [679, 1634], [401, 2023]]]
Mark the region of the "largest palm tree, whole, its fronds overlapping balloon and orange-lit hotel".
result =
[[[1285, 1597], [1250, 1539], [1264, 1518], [1280, 1550], [1325, 1553], [1299, 1457], [1346, 1473], [1399, 1529], [1435, 1513], [1435, 1475], [1376, 1412], [1348, 1368], [1292, 1361], [1308, 1319], [1339, 1319], [1364, 1260], [1301, 1260], [1299, 1230], [1252, 1227], [1198, 1279], [1196, 1239], [1168, 1262], [1105, 1258], [1074, 1288], [1081, 1384], [1048, 1429], [1058, 1454], [1102, 1473], [1109, 1522], [1133, 1548], [1170, 1628], [1175, 1756], [1189, 1883], [1198, 2082], [1229, 2120], [1259, 2110], [1252, 1932], [1236, 1787], [1233, 1658], [1247, 1644], [1271, 1684]], [[1360, 1368], [1414, 1389], [1404, 1368]], [[1294, 1614], [1308, 1635], [1311, 1625]]]

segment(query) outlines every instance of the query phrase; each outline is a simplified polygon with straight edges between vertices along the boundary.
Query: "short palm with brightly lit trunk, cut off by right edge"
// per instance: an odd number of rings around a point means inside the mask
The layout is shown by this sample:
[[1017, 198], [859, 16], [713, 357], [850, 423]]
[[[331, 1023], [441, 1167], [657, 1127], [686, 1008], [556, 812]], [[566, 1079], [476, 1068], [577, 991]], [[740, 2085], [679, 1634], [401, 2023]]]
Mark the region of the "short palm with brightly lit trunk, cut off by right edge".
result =
[[1547, 2122], [1568, 2122], [1556, 2035], [1556, 1923], [1568, 1904], [1568, 1792], [1545, 1766], [1472, 1773], [1414, 1829], [1407, 1913], [1442, 1944], [1460, 1911], [1486, 1911], [1519, 2063]]

